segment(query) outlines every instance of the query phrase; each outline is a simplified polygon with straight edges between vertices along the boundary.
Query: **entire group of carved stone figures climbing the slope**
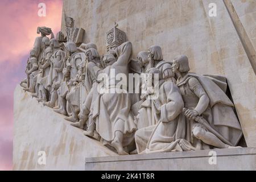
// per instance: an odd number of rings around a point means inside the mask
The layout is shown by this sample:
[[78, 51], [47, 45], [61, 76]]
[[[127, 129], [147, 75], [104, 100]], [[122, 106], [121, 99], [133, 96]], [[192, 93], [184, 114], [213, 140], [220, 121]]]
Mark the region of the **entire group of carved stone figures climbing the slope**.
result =
[[[82, 43], [84, 30], [65, 20], [67, 37], [38, 28], [20, 84], [32, 97], [119, 155], [238, 147], [242, 130], [225, 77], [190, 73], [187, 56], [166, 61], [159, 46], [132, 59], [133, 46], [117, 25], [100, 56], [96, 44]], [[131, 73], [145, 79], [130, 85]], [[119, 75], [129, 84], [117, 87]]]

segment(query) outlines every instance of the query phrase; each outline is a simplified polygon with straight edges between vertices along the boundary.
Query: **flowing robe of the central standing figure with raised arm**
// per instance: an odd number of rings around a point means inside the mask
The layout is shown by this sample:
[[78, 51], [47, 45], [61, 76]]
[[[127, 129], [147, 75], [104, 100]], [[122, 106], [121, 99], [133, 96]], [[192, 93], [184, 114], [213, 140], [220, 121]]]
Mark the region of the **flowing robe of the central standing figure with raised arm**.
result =
[[[123, 43], [116, 49], [117, 62], [104, 69], [110, 78], [110, 69], [115, 69], [115, 73], [128, 75], [127, 65], [130, 61], [132, 45], [130, 42]], [[111, 78], [110, 78], [111, 79]], [[109, 81], [111, 83], [111, 81]], [[115, 85], [108, 85], [108, 89]], [[130, 144], [131, 140], [126, 140], [126, 136], [137, 129], [133, 115], [131, 114], [131, 102], [129, 93], [102, 93], [94, 101], [93, 116], [96, 123], [96, 131], [107, 143], [113, 141], [116, 131], [124, 134], [123, 147]], [[126, 142], [127, 141], [127, 142]]]

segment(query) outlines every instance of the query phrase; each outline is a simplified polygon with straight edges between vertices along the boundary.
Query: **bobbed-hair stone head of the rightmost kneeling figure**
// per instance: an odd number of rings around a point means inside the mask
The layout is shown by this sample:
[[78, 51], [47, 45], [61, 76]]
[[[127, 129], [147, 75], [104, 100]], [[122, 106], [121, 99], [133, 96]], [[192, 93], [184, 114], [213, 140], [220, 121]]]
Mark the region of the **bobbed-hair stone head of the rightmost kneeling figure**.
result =
[[180, 55], [175, 57], [174, 63], [172, 64], [172, 72], [174, 73], [186, 73], [189, 72], [188, 57], [185, 55]]

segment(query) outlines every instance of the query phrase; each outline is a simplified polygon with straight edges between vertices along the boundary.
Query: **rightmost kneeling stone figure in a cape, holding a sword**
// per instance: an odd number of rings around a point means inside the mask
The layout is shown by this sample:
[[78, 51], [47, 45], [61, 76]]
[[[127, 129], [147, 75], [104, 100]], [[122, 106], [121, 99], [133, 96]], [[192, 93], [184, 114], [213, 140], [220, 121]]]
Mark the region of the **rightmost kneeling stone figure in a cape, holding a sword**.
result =
[[175, 58], [172, 71], [184, 101], [185, 139], [196, 150], [236, 147], [242, 130], [232, 101], [221, 89], [226, 82], [220, 86], [207, 76], [188, 73], [185, 55]]

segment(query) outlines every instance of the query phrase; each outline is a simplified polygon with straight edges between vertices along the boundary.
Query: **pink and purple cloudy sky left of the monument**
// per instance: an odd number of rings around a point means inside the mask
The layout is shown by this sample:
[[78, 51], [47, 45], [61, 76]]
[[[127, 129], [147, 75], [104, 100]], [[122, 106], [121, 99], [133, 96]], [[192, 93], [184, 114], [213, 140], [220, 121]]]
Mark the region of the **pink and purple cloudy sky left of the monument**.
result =
[[[46, 17], [38, 4], [46, 4]], [[60, 31], [62, 0], [0, 1], [0, 170], [11, 170], [13, 153], [13, 92], [24, 78], [28, 53], [38, 26]]]

